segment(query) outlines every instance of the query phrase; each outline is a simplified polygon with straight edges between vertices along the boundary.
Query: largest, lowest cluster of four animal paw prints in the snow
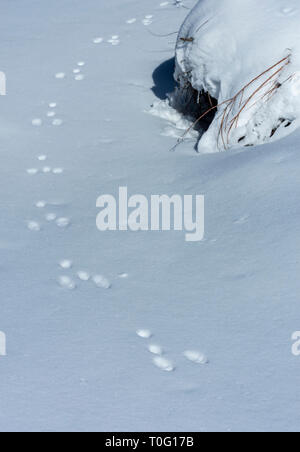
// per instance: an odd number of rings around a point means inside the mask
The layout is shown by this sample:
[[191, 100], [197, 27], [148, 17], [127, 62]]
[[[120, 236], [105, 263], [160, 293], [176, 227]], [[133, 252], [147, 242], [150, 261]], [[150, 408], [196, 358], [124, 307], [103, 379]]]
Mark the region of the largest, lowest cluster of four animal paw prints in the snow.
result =
[[[137, 336], [141, 339], [150, 340], [153, 337], [153, 334], [148, 329], [139, 329], [136, 331]], [[173, 372], [176, 367], [175, 364], [164, 356], [164, 349], [160, 345], [149, 342], [147, 346], [148, 352], [153, 355], [152, 362], [158, 367], [160, 370], [164, 372]], [[197, 350], [186, 350], [183, 352], [183, 356], [190, 362], [194, 364], [208, 364], [208, 358], [206, 355]]]

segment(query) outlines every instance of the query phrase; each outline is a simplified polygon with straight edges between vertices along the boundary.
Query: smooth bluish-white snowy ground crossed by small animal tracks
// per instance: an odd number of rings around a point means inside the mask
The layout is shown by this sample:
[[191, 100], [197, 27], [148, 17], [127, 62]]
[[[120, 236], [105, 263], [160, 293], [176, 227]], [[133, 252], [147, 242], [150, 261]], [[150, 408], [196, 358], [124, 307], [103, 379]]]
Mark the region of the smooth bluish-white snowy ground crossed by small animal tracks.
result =
[[[300, 133], [169, 152], [166, 122], [144, 111], [172, 89], [171, 64], [160, 66], [176, 36], [147, 29], [175, 32], [187, 12], [172, 0], [1, 2], [1, 431], [299, 430]], [[96, 199], [124, 185], [205, 194], [205, 240], [100, 233]]]

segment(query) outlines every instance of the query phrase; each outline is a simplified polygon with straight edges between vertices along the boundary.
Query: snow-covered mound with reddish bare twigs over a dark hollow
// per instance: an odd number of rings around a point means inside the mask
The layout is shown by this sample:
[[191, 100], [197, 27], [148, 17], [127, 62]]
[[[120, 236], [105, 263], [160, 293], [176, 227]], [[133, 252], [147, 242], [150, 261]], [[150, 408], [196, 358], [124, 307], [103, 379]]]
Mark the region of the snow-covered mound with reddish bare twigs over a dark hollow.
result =
[[196, 93], [194, 104], [206, 99], [205, 111], [218, 104], [200, 152], [291, 133], [300, 118], [299, 0], [200, 0], [179, 32], [175, 78], [180, 92]]

